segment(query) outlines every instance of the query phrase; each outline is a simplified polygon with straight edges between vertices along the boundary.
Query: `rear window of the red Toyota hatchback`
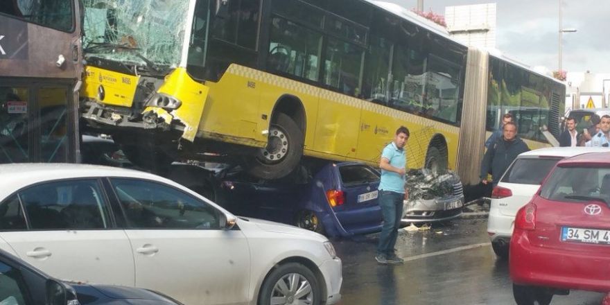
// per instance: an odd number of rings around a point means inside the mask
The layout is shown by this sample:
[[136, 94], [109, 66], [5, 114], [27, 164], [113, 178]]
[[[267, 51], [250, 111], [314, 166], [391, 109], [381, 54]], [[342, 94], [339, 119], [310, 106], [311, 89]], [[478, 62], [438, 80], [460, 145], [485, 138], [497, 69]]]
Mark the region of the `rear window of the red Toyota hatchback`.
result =
[[557, 167], [542, 186], [540, 195], [562, 202], [610, 202], [610, 168]]

